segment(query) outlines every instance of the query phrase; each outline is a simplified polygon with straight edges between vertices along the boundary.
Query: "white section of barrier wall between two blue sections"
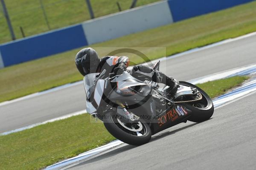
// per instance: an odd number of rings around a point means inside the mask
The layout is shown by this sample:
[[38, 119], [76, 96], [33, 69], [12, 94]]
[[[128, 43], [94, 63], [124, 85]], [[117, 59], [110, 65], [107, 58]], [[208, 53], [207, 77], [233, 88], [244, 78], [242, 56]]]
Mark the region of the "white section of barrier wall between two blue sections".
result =
[[88, 44], [111, 40], [173, 23], [167, 1], [122, 11], [82, 23]]

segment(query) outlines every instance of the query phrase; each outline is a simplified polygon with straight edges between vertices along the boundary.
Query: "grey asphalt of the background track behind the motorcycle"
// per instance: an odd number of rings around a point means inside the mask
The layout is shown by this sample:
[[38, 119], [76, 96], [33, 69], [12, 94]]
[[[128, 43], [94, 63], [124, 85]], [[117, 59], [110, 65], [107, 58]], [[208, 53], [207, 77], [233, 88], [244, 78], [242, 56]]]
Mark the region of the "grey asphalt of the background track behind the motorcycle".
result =
[[[168, 59], [160, 71], [187, 81], [256, 63], [256, 35]], [[167, 71], [166, 71], [167, 70]], [[0, 107], [0, 133], [86, 109], [83, 85]]]

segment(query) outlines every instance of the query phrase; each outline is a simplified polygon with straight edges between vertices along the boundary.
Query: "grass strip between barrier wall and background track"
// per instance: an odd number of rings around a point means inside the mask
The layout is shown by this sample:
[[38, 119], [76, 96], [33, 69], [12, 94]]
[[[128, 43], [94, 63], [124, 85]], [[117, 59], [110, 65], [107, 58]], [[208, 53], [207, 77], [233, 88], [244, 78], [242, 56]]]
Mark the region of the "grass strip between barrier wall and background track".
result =
[[[256, 1], [178, 23], [92, 45], [101, 56], [101, 47], [143, 47], [148, 59], [172, 55], [256, 31]], [[166, 54], [161, 50], [166, 48]], [[79, 49], [0, 69], [0, 102], [43, 91], [82, 79], [74, 57]], [[129, 55], [131, 62], [140, 57]]]

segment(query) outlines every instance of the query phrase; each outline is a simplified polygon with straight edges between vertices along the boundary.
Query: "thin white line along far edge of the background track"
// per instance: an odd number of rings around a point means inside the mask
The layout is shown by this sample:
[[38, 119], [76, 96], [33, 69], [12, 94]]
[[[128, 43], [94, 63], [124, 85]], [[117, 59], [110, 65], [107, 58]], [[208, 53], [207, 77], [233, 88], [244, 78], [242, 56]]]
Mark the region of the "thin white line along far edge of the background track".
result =
[[[247, 38], [247, 37], [251, 37], [251, 36], [254, 36], [254, 35], [256, 35], [256, 32], [253, 32], [253, 33], [250, 33], [250, 34], [246, 34], [246, 35], [243, 35], [243, 36], [240, 36], [240, 37], [236, 37], [236, 38], [232, 38], [232, 39], [227, 39], [227, 40], [223, 40], [223, 41], [220, 41], [220, 42], [216, 42], [216, 43], [213, 43], [211, 45], [206, 45], [204, 47], [194, 48], [194, 49], [191, 49], [191, 50], [188, 50], [188, 51], [184, 51], [182, 53], [175, 54], [175, 55], [172, 55], [172, 56], [169, 56], [169, 57], [162, 57], [160, 59], [155, 59], [155, 60], [153, 60], [151, 62], [157, 62], [159, 60], [160, 61], [165, 61], [165, 60], [168, 60], [168, 59], [171, 59], [171, 58], [181, 57], [181, 56], [186, 55], [186, 54], [191, 54], [191, 53], [194, 53], [194, 52], [197, 52], [197, 51], [202, 51], [202, 50], [205, 50], [207, 48], [212, 48], [212, 47], [215, 47], [215, 46], [218, 46], [218, 45], [222, 45], [222, 44], [225, 44], [225, 43], [228, 43], [228, 42], [233, 42], [233, 41], [241, 40], [241, 39], [244, 39], [244, 38]], [[6, 102], [1, 102], [0, 106], [8, 105], [10, 103], [18, 102], [18, 101], [21, 101], [21, 100], [24, 100], [24, 99], [29, 99], [29, 98], [32, 98], [32, 97], [35, 97], [35, 96], [40, 96], [40, 95], [43, 95], [43, 94], [51, 93], [53, 91], [62, 90], [64, 88], [69, 88], [69, 87], [72, 87], [72, 86], [75, 86], [75, 85], [78, 85], [78, 84], [83, 84], [83, 81], [79, 81], [79, 82], [75, 82], [75, 83], [68, 83], [66, 85], [61, 85], [61, 86], [58, 86], [56, 88], [52, 88], [52, 89], [49, 89], [49, 90], [46, 90], [46, 91], [42, 91], [42, 92], [38, 92], [38, 93], [34, 93], [34, 94], [29, 94], [27, 96], [23, 96], [23, 97], [20, 97], [20, 98], [17, 98], [17, 99], [13, 99], [13, 100], [9, 100], [9, 101], [6, 101]]]

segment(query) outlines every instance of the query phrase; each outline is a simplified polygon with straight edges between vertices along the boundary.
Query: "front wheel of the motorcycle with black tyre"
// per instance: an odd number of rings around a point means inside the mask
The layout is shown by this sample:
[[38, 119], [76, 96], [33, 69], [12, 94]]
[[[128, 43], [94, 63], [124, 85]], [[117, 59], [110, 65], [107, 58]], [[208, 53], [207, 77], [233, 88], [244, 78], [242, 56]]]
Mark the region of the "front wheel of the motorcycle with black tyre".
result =
[[106, 129], [120, 141], [132, 145], [142, 145], [150, 141], [151, 129], [143, 119], [135, 123], [124, 123], [111, 111], [105, 113], [105, 117], [103, 122]]

